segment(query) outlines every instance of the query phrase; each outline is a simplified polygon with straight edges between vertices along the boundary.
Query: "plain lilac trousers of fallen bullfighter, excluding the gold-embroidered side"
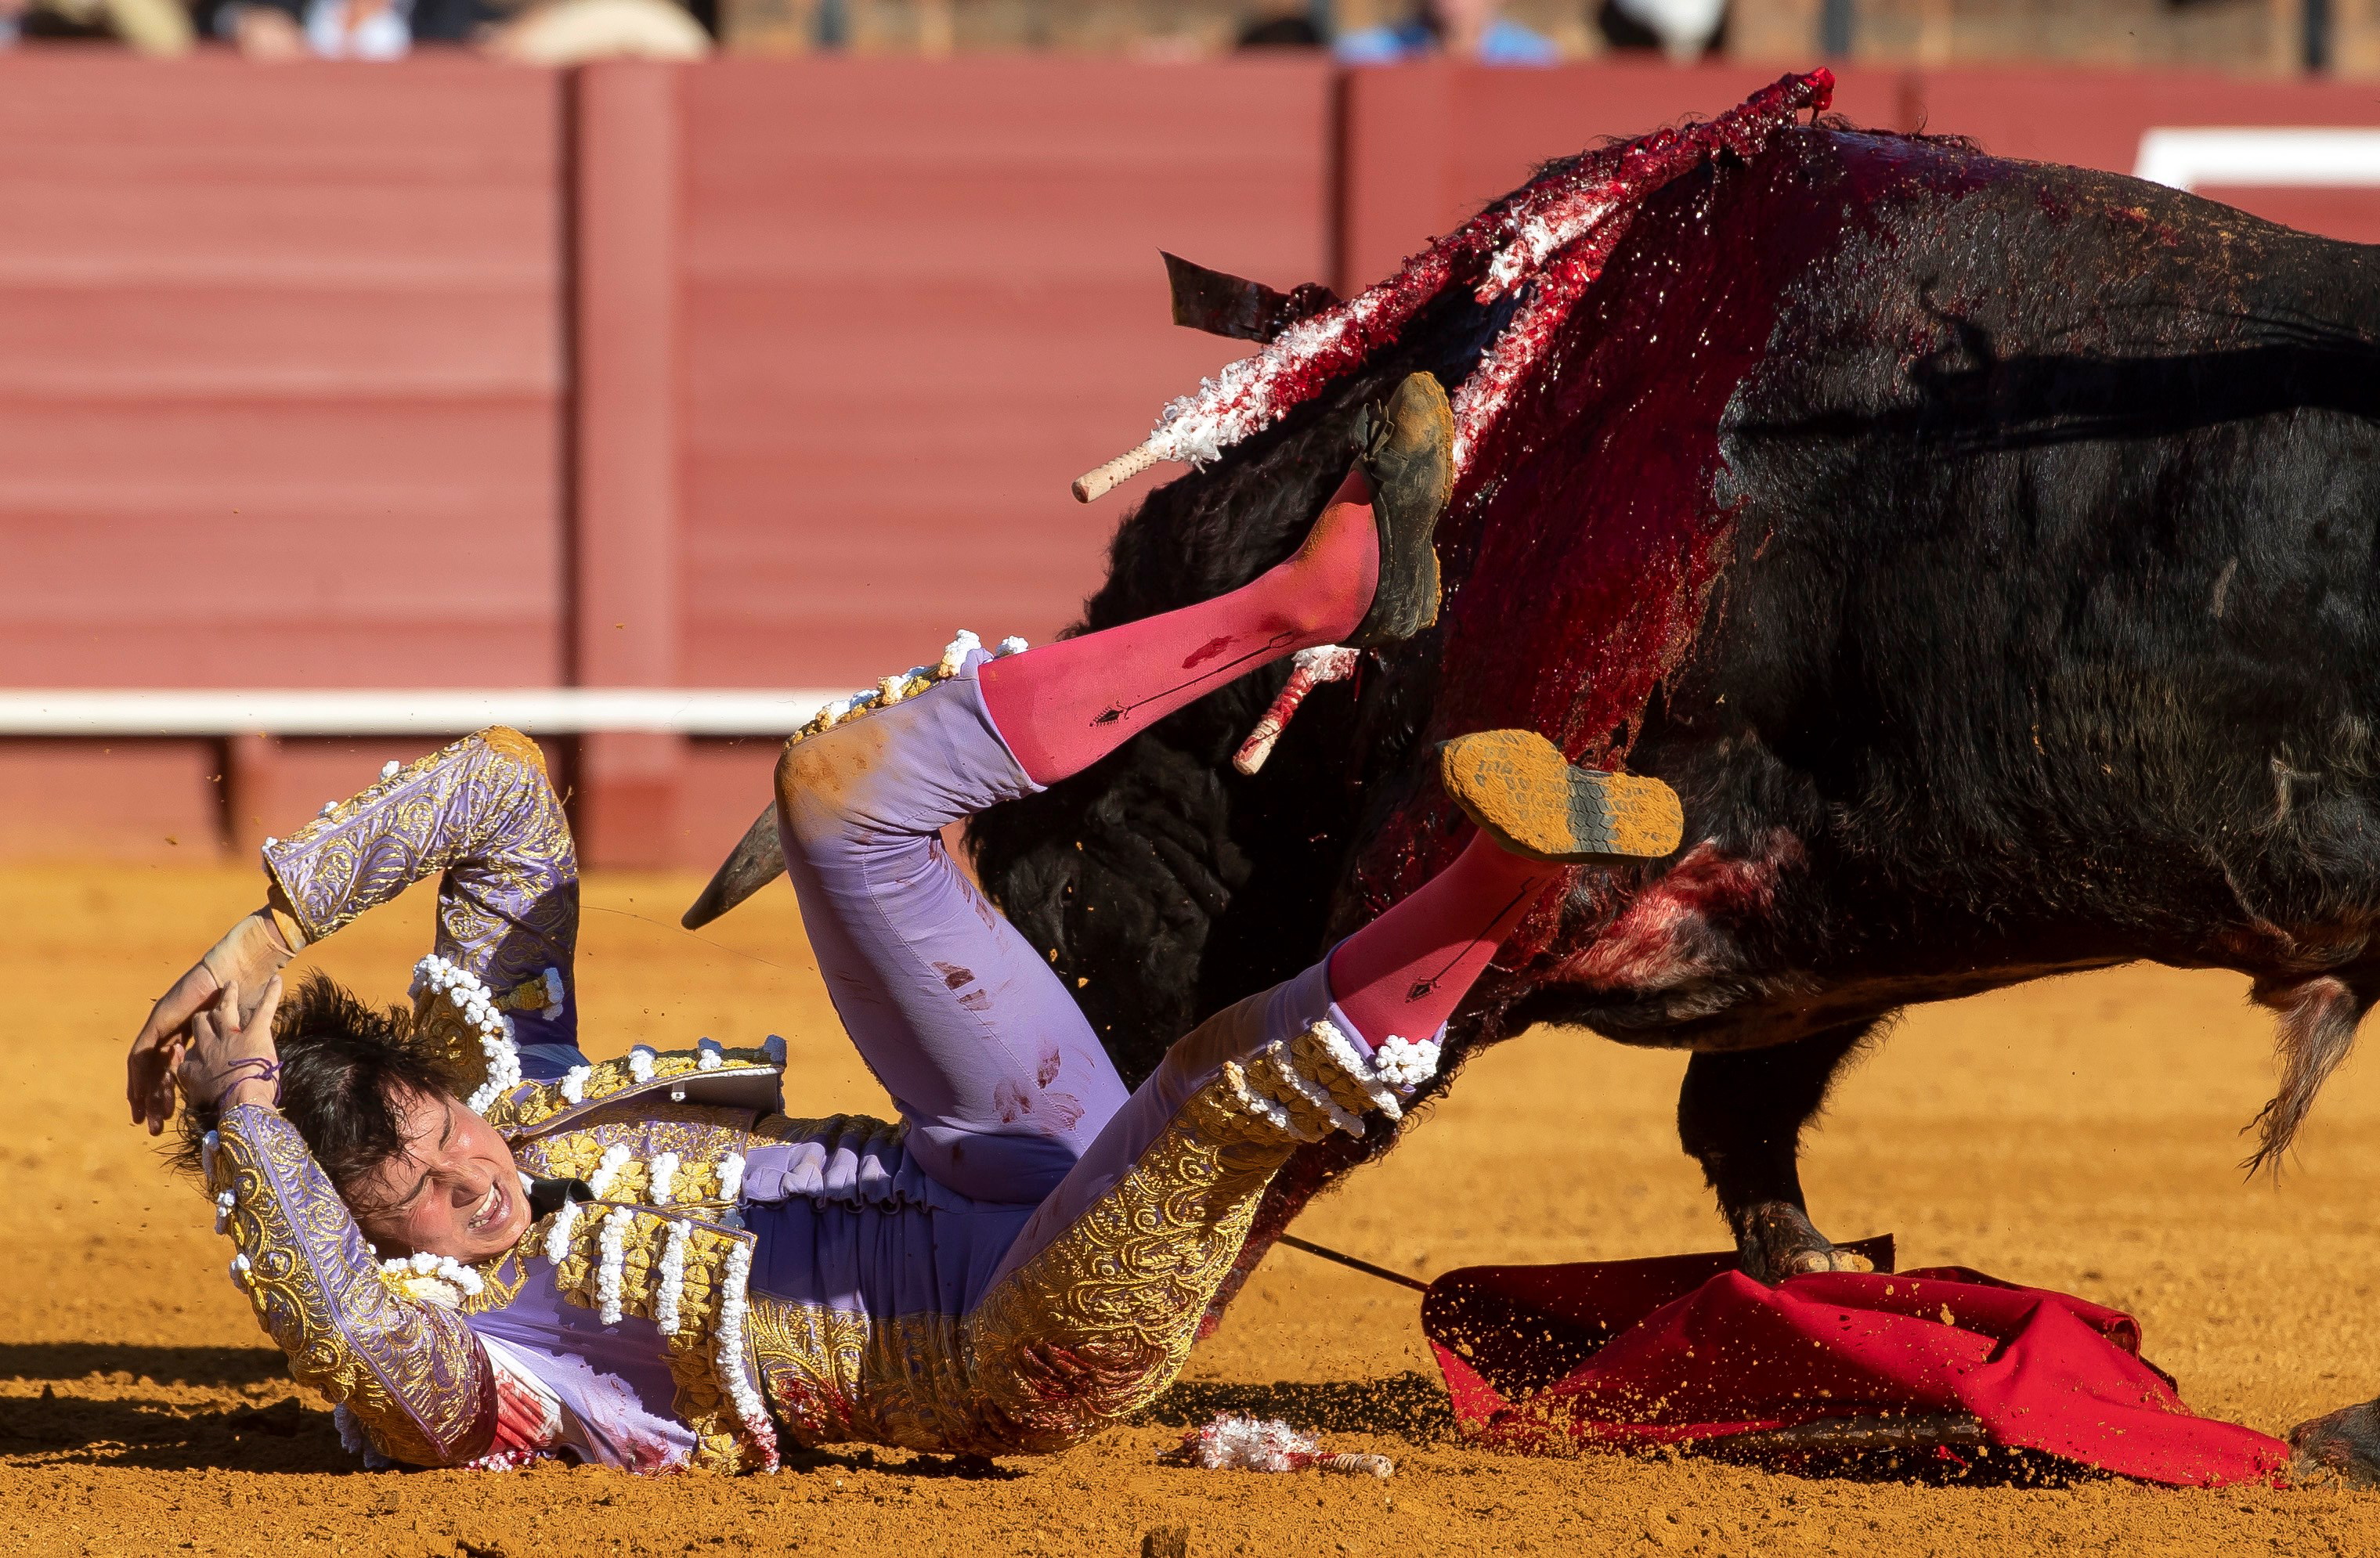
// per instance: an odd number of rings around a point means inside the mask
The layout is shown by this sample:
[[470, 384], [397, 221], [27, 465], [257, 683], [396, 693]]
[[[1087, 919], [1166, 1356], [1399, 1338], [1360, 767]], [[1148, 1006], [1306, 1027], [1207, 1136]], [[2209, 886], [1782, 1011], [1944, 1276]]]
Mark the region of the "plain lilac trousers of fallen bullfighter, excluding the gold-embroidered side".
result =
[[[788, 756], [785, 873], [835, 1013], [907, 1132], [752, 1156], [752, 1280], [783, 1299], [966, 1313], [1228, 1058], [1166, 1066], [1128, 1094], [1047, 956], [952, 863], [947, 823], [1038, 790], [983, 706], [978, 664]], [[1247, 1047], [1323, 1016], [1354, 1032], [1316, 963], [1273, 990]]]

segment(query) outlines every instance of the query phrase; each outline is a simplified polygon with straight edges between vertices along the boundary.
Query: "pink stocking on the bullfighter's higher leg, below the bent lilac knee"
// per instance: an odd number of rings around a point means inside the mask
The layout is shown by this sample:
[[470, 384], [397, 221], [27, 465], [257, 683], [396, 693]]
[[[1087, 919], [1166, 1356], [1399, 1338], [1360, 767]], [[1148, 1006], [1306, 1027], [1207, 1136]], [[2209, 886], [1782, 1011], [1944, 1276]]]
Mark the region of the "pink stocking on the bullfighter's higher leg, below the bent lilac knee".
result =
[[983, 706], [1026, 778], [1054, 785], [1216, 687], [1347, 637], [1378, 583], [1371, 483], [1349, 471], [1290, 561], [1180, 611], [985, 661]]

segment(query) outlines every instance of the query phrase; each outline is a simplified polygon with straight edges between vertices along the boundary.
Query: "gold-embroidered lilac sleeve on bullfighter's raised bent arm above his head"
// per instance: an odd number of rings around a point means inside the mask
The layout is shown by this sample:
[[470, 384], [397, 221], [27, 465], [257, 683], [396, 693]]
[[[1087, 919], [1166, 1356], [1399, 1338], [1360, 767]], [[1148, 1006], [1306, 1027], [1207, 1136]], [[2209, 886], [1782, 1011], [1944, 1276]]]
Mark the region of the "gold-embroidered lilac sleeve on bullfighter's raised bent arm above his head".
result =
[[[264, 849], [290, 916], [319, 942], [445, 873], [436, 951], [490, 990], [571, 973], [578, 852], [538, 745], [495, 725], [336, 802]], [[569, 999], [564, 994], [564, 999]], [[476, 1049], [469, 1056], [478, 1066]]]

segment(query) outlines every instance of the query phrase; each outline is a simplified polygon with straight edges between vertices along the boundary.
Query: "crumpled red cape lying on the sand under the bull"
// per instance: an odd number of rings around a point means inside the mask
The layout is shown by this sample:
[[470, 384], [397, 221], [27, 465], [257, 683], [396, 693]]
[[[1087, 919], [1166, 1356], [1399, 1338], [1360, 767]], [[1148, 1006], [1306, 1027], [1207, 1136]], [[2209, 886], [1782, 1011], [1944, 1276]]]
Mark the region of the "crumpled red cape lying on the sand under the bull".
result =
[[1749, 1451], [1828, 1434], [1909, 1449], [1892, 1425], [1916, 1422], [1916, 1444], [2042, 1451], [2180, 1487], [2268, 1482], [2290, 1458], [2280, 1439], [2182, 1406], [2121, 1311], [1961, 1265], [1890, 1273], [1890, 1237], [1847, 1249], [1885, 1270], [1761, 1287], [1733, 1254], [1473, 1265], [1430, 1284], [1421, 1327], [1457, 1422], [1497, 1449]]

